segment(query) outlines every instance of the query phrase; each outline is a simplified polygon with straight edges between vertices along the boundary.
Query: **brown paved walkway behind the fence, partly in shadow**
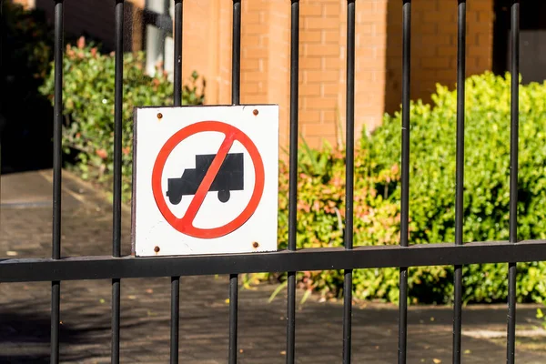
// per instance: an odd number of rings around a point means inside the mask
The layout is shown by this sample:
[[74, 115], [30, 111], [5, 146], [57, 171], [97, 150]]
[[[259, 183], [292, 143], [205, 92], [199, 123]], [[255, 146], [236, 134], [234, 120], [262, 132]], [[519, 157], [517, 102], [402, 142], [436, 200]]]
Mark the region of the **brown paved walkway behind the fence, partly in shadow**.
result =
[[[65, 175], [63, 256], [111, 252], [111, 211], [93, 188]], [[51, 254], [51, 172], [1, 177], [0, 258], [48, 257]], [[129, 212], [124, 215], [124, 248], [129, 250]], [[1, 280], [1, 278], [0, 278]], [[285, 360], [286, 303], [274, 287], [239, 293], [239, 362]], [[121, 361], [167, 363], [170, 279], [122, 281]], [[107, 363], [110, 350], [110, 297], [107, 280], [61, 285], [61, 359]], [[0, 284], [0, 362], [48, 362], [49, 283]], [[226, 363], [227, 278], [181, 280], [180, 362]], [[518, 329], [533, 329], [535, 308], [518, 308]], [[398, 310], [392, 306], [355, 307], [353, 362], [396, 363]], [[342, 306], [309, 299], [297, 313], [298, 363], [340, 363]], [[463, 362], [505, 362], [506, 310], [501, 306], [465, 308]], [[408, 362], [451, 362], [450, 308], [412, 307], [409, 312]], [[542, 335], [519, 345], [517, 361], [546, 363]], [[494, 339], [497, 338], [497, 339]]]

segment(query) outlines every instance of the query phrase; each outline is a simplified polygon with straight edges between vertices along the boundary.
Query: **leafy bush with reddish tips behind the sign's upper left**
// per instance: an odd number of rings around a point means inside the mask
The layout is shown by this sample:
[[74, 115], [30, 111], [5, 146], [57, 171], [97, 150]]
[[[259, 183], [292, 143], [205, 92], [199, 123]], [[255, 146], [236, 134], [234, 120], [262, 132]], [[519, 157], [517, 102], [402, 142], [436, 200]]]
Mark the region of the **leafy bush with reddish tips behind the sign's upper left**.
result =
[[[166, 106], [173, 103], [173, 85], [159, 67], [155, 76], [143, 70], [144, 53], [124, 55], [123, 157], [124, 196], [130, 191], [132, 174], [133, 107]], [[103, 55], [80, 38], [76, 46], [66, 45], [64, 62], [63, 147], [76, 154], [76, 167], [85, 179], [107, 181], [112, 176], [114, 146], [115, 55]], [[198, 85], [194, 73], [184, 86], [183, 105], [198, 105], [204, 99], [204, 81]], [[41, 92], [53, 103], [54, 73], [45, 80]], [[75, 152], [76, 151], [76, 152]]]

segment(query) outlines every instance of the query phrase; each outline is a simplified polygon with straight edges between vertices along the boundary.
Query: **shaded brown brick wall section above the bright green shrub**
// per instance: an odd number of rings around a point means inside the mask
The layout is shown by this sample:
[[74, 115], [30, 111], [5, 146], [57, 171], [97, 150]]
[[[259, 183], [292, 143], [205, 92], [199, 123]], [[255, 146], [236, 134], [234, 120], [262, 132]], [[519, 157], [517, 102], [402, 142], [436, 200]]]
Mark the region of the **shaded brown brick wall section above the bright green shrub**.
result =
[[[392, 4], [396, 3], [396, 4]], [[492, 0], [467, 2], [467, 76], [492, 66]], [[402, 13], [389, 2], [385, 110], [401, 100]], [[457, 77], [457, 2], [414, 0], [411, 14], [411, 98], [430, 101], [436, 84], [455, 86]]]

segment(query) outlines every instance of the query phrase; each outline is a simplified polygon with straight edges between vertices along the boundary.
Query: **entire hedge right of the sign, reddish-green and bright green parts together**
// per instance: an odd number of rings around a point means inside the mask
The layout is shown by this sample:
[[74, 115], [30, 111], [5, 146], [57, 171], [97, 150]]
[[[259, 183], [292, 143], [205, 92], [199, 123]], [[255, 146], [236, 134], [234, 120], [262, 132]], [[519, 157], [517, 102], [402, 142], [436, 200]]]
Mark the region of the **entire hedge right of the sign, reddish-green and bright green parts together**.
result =
[[[508, 238], [510, 176], [510, 76], [486, 73], [466, 82], [465, 241]], [[434, 105], [411, 104], [410, 243], [454, 241], [456, 100], [438, 86]], [[521, 86], [519, 238], [546, 237], [546, 85]], [[399, 243], [400, 114], [361, 139], [355, 156], [354, 244]], [[343, 245], [345, 161], [343, 153], [301, 148], [298, 177], [298, 248]], [[282, 164], [279, 189], [280, 248], [288, 238], [288, 169]], [[546, 263], [519, 264], [518, 300], [546, 298]], [[463, 268], [463, 299], [491, 302], [507, 297], [507, 264]], [[252, 278], [285, 276], [258, 275]], [[409, 270], [412, 302], [449, 302], [451, 267]], [[249, 282], [253, 280], [249, 278]], [[298, 285], [339, 296], [339, 271], [302, 272]], [[355, 298], [396, 302], [398, 268], [354, 271]]]

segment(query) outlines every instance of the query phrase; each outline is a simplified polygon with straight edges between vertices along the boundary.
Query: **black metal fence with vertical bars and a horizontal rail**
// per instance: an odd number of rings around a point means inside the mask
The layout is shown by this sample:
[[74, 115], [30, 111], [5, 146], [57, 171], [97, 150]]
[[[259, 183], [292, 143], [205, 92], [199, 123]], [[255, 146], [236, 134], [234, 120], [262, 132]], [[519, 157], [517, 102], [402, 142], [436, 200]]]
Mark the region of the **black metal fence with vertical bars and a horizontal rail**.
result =
[[[458, 1], [457, 55], [457, 173], [455, 243], [409, 245], [410, 193], [410, 25], [411, 0], [403, 0], [402, 62], [402, 158], [400, 245], [353, 248], [354, 105], [355, 105], [355, 0], [347, 1], [347, 117], [346, 117], [346, 221], [345, 248], [296, 248], [298, 178], [298, 29], [299, 1], [291, 0], [290, 42], [290, 148], [289, 148], [289, 228], [288, 250], [208, 256], [134, 258], [121, 257], [121, 133], [123, 82], [124, 1], [116, 1], [116, 89], [114, 145], [114, 202], [112, 255], [61, 258], [61, 125], [63, 115], [63, 0], [55, 0], [55, 106], [54, 106], [54, 190], [52, 258], [0, 260], [3, 282], [51, 281], [51, 362], [59, 361], [59, 305], [61, 281], [73, 279], [112, 279], [112, 362], [119, 362], [120, 285], [122, 278], [171, 277], [170, 361], [178, 362], [179, 284], [181, 276], [229, 275], [228, 362], [238, 355], [238, 274], [250, 272], [288, 272], [287, 363], [294, 363], [296, 326], [296, 272], [302, 270], [344, 269], [343, 362], [351, 359], [352, 270], [355, 268], [398, 267], [399, 276], [399, 363], [406, 362], [408, 315], [408, 268], [453, 265], [455, 268], [453, 307], [453, 363], [460, 363], [462, 265], [509, 264], [507, 315], [507, 362], [514, 363], [516, 322], [516, 264], [546, 260], [546, 241], [518, 241], [518, 77], [511, 77], [511, 175], [510, 240], [463, 244], [463, 168], [464, 168], [464, 77], [466, 45], [466, 1]], [[187, 0], [189, 1], [189, 0]], [[247, 1], [247, 0], [246, 0]], [[250, 1], [250, 0], [248, 0]], [[182, 85], [182, 0], [175, 0], [174, 19], [174, 105], [181, 106]], [[288, 6], [288, 4], [287, 4]], [[511, 1], [511, 74], [519, 74], [520, 1]], [[239, 104], [241, 0], [233, 0], [232, 103]], [[341, 338], [340, 338], [341, 341]], [[341, 342], [340, 342], [341, 345]]]

